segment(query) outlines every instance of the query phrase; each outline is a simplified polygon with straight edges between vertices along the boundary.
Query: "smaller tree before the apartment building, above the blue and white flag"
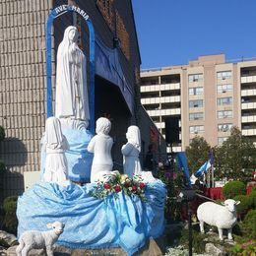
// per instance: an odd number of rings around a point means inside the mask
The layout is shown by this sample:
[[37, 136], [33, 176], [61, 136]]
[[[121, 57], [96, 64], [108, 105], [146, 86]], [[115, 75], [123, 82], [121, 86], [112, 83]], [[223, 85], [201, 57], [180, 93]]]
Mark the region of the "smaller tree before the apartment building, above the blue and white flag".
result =
[[190, 173], [194, 173], [209, 159], [210, 151], [211, 146], [203, 137], [196, 136], [192, 139], [189, 147], [185, 150]]

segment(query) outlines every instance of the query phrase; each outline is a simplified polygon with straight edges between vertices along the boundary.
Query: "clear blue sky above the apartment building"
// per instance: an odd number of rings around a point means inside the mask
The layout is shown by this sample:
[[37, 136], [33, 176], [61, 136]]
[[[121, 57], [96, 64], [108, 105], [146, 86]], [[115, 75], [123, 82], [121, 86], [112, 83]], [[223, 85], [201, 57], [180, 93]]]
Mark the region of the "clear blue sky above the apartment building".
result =
[[256, 0], [132, 0], [142, 68], [256, 57]]

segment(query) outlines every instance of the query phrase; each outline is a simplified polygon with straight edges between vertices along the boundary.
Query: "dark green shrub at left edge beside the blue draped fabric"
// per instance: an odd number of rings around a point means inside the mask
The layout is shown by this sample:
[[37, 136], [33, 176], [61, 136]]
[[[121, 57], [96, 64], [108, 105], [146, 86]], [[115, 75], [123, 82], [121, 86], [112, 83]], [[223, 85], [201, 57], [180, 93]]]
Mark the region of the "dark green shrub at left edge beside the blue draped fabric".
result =
[[10, 233], [17, 233], [18, 220], [16, 216], [17, 196], [7, 197], [3, 203], [4, 222], [3, 228]]

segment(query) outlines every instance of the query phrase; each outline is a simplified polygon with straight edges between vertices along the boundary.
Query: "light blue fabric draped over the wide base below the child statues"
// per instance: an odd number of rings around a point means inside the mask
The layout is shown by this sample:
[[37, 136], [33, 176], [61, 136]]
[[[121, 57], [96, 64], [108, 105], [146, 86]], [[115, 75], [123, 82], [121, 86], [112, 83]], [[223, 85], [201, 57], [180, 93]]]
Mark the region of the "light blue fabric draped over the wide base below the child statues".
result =
[[95, 184], [83, 187], [71, 184], [39, 182], [18, 200], [18, 236], [26, 230], [46, 230], [46, 224], [65, 224], [58, 244], [70, 248], [122, 247], [129, 255], [141, 248], [148, 237], [158, 237], [164, 227], [164, 184], [148, 184], [148, 201], [129, 197], [98, 200], [90, 195]]

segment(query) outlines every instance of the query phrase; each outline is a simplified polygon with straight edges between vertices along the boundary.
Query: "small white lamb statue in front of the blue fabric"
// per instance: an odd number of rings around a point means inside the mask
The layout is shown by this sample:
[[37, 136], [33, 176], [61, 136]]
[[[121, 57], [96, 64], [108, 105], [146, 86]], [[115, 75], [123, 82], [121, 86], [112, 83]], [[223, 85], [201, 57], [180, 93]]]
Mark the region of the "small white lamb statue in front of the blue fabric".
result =
[[32, 249], [44, 248], [48, 256], [53, 256], [52, 245], [63, 232], [64, 224], [55, 222], [47, 224], [47, 227], [52, 229], [42, 232], [37, 230], [25, 231], [19, 239], [20, 245], [16, 249], [17, 255], [27, 256]]

